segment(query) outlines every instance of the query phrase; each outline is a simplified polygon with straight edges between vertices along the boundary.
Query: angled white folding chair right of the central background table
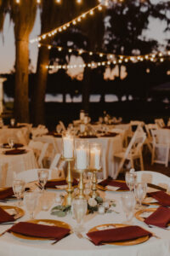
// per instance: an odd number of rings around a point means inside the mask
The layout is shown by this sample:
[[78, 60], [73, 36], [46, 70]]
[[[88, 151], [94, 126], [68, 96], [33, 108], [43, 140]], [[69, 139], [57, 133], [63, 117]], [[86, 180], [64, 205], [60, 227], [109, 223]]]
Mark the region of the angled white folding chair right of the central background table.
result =
[[122, 148], [122, 152], [119, 152], [113, 155], [114, 160], [115, 158], [119, 158], [121, 160], [118, 166], [118, 169], [116, 171], [117, 174], [121, 172], [122, 167], [125, 163], [125, 160], [128, 160], [130, 162], [131, 168], [134, 168], [133, 160], [139, 159], [140, 168], [141, 170], [144, 170], [142, 149], [143, 149], [145, 138], [146, 138], [145, 133], [137, 129], [137, 131], [134, 132], [133, 137], [130, 143], [128, 144], [127, 148]]

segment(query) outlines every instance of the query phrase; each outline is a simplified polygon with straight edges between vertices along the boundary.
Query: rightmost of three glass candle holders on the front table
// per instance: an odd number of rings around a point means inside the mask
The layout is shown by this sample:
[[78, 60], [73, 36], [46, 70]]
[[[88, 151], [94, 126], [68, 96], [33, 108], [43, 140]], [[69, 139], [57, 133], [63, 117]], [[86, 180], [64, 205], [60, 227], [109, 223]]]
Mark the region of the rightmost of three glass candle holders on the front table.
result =
[[101, 169], [101, 145], [99, 143], [90, 144], [90, 170]]

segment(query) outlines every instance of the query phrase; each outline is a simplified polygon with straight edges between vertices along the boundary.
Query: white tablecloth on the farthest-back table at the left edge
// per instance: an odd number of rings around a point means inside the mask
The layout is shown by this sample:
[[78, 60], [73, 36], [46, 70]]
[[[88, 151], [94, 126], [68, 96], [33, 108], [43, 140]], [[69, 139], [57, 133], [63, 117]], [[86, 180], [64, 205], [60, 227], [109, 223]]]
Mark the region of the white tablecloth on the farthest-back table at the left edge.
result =
[[29, 128], [27, 126], [21, 128], [8, 128], [4, 126], [0, 129], [0, 143], [8, 143], [8, 138], [13, 137], [15, 143], [28, 144]]

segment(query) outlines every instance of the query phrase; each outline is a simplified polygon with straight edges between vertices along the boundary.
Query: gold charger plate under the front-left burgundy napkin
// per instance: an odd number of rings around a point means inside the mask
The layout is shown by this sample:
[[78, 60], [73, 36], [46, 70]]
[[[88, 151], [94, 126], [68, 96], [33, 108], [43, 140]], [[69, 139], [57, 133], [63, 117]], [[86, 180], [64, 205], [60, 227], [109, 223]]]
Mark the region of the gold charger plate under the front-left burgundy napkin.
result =
[[[65, 228], [65, 229], [69, 229], [71, 230], [71, 226], [63, 221], [59, 221], [59, 220], [54, 220], [54, 219], [32, 219], [27, 221], [29, 223], [34, 223], [34, 224], [38, 224], [39, 222], [44, 222], [47, 224], [54, 224], [56, 227], [59, 228]], [[49, 238], [44, 238], [44, 237], [37, 237], [37, 236], [25, 236], [25, 235], [21, 235], [18, 233], [14, 233], [11, 232], [11, 234], [13, 234], [14, 236], [21, 238], [21, 239], [26, 239], [26, 240], [50, 240]]]

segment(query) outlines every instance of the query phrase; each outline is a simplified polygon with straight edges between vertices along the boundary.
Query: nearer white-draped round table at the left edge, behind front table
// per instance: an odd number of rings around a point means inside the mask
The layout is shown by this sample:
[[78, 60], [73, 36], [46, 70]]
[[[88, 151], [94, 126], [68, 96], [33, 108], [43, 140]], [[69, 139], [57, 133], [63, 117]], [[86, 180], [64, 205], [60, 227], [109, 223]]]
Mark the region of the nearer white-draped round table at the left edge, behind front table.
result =
[[[13, 183], [14, 172], [23, 172], [29, 169], [37, 168], [37, 160], [31, 148], [23, 147], [26, 149], [25, 154], [3, 154], [5, 148], [0, 148], [0, 163], [4, 170], [7, 172], [6, 186], [11, 186]], [[1, 254], [0, 254], [1, 255]]]

